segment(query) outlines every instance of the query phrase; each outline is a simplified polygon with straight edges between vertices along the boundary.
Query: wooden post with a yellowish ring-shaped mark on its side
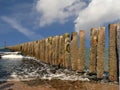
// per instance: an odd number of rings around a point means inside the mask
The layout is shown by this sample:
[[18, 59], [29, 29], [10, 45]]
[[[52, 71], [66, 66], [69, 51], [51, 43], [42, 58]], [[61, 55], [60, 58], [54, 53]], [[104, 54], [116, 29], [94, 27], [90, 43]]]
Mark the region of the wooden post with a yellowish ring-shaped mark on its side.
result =
[[70, 68], [70, 34], [65, 33], [65, 61], [64, 61], [64, 67]]

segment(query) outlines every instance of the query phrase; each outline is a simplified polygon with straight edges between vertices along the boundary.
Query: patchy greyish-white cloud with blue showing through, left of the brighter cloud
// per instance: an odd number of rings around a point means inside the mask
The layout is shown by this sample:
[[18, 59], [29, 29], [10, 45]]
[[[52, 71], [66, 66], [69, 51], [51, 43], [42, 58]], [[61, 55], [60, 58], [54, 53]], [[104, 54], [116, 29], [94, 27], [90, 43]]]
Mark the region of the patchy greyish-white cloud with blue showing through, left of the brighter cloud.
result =
[[36, 9], [41, 14], [40, 26], [65, 23], [70, 17], [77, 16], [85, 5], [80, 0], [38, 0]]

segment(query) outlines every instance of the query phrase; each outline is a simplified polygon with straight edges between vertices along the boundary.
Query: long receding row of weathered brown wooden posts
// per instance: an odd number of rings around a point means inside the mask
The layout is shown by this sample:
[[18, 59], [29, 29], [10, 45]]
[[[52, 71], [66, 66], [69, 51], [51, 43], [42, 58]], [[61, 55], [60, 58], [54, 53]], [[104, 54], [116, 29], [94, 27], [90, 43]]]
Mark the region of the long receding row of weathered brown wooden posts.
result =
[[[120, 24], [109, 25], [109, 79], [118, 80], [118, 48], [120, 44]], [[78, 38], [79, 36], [79, 38]], [[119, 36], [119, 37], [118, 37]], [[103, 78], [105, 66], [105, 27], [92, 28], [90, 31], [90, 64], [89, 73], [96, 73], [97, 78]], [[79, 44], [78, 44], [79, 40]], [[33, 56], [36, 59], [59, 65], [72, 70], [84, 72], [86, 65], [86, 39], [85, 31], [80, 30], [79, 34], [65, 33], [64, 35], [48, 37], [44, 40], [27, 42], [9, 47], [15, 51], [21, 51], [25, 55]]]

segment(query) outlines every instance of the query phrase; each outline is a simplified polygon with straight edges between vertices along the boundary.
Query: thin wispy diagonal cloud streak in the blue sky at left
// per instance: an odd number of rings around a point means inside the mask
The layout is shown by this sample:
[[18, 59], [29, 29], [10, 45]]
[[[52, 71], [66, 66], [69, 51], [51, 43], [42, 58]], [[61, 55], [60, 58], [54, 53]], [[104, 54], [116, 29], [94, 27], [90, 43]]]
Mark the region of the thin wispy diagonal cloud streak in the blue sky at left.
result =
[[5, 21], [6, 23], [10, 24], [12, 26], [12, 28], [16, 29], [17, 31], [19, 31], [20, 33], [24, 34], [25, 36], [27, 36], [29, 39], [37, 39], [42, 38], [40, 35], [36, 35], [34, 32], [28, 30], [27, 28], [24, 28], [22, 25], [20, 25], [16, 20], [11, 19], [9, 17], [6, 16], [2, 16], [1, 19], [3, 21]]

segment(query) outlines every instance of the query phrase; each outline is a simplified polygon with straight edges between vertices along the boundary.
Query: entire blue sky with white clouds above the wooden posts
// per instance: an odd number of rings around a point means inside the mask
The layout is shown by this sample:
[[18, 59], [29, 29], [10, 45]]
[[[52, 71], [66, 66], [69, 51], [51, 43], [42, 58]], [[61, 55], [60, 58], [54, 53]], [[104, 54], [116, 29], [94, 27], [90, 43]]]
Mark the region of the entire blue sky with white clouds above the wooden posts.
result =
[[[0, 46], [120, 21], [120, 0], [0, 0]], [[89, 41], [87, 42], [89, 43]]]

